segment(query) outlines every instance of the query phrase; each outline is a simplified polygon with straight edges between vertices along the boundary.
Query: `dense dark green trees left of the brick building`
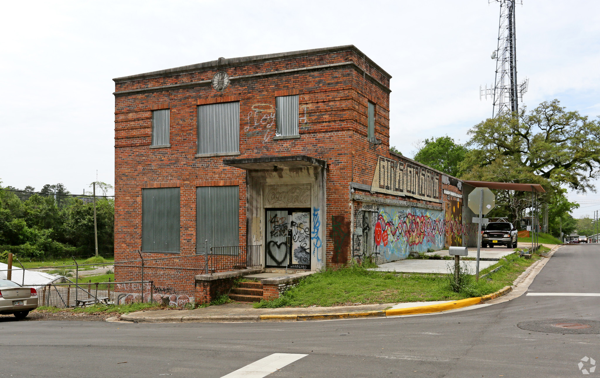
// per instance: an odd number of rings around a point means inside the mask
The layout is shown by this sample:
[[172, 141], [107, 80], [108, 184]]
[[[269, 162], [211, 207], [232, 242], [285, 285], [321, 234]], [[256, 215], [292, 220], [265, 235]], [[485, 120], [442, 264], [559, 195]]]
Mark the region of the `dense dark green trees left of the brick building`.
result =
[[[1, 253], [16, 254], [22, 262], [94, 254], [92, 203], [67, 196], [62, 184], [46, 185], [41, 194], [9, 191], [16, 190], [12, 187], [0, 189], [4, 189], [0, 190]], [[114, 200], [97, 199], [96, 214], [98, 252], [112, 256]]]

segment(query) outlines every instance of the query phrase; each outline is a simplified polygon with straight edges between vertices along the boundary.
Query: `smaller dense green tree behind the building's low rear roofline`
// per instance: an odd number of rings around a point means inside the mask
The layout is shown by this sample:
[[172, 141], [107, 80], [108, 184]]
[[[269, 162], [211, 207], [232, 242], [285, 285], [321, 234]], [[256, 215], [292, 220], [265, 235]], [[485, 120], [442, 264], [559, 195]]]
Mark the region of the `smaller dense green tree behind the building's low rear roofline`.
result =
[[415, 160], [452, 176], [460, 174], [459, 164], [464, 160], [467, 148], [454, 142], [449, 136], [425, 139], [415, 154]]

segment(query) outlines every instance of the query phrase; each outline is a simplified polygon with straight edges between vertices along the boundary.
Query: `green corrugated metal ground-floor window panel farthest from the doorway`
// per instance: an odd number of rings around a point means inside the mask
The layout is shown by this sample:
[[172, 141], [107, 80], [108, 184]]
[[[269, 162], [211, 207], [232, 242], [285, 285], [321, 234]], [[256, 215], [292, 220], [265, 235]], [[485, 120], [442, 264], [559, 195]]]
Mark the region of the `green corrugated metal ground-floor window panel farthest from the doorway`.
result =
[[142, 251], [179, 253], [179, 188], [142, 189]]

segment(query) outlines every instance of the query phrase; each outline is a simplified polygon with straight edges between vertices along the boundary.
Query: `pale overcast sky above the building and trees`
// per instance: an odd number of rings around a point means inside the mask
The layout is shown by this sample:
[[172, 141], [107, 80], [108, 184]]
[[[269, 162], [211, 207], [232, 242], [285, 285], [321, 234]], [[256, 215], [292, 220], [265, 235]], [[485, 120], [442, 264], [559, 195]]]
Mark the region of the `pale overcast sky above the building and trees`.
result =
[[[491, 116], [478, 96], [495, 70], [487, 0], [4, 1], [0, 17], [2, 185], [81, 193], [96, 170], [112, 184], [111, 79], [220, 56], [354, 44], [393, 76], [391, 145], [409, 157], [416, 140], [465, 142]], [[600, 1], [524, 0], [516, 19], [524, 103], [600, 115]]]

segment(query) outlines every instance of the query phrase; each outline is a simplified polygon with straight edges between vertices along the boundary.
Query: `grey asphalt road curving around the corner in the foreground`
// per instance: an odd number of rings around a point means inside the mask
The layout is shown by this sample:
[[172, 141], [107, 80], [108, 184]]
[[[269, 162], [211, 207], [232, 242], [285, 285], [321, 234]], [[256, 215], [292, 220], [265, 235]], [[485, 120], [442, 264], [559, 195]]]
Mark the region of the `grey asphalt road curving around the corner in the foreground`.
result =
[[[529, 292], [600, 293], [599, 267], [597, 245], [561, 247]], [[528, 331], [517, 324], [600, 321], [599, 305], [600, 296], [522, 295], [476, 310], [392, 319], [169, 324], [3, 319], [0, 377], [220, 378], [272, 353], [307, 356], [269, 378], [577, 377], [583, 375], [577, 364], [584, 356], [600, 365], [600, 335]], [[590, 367], [586, 362], [584, 368]], [[594, 374], [600, 376], [600, 368]]]

